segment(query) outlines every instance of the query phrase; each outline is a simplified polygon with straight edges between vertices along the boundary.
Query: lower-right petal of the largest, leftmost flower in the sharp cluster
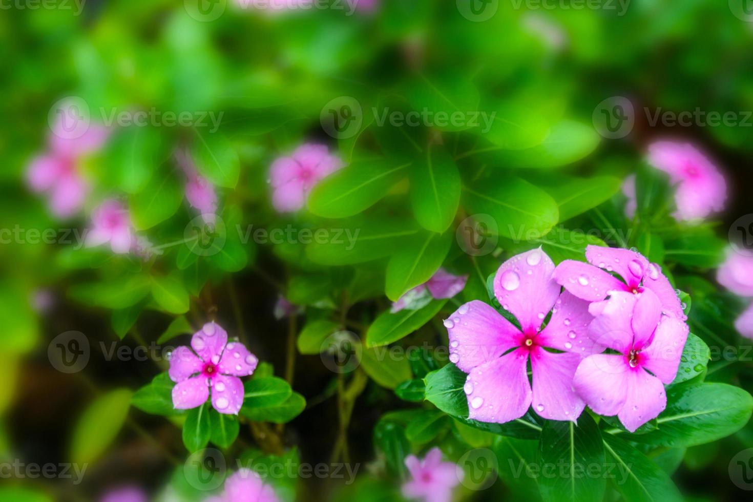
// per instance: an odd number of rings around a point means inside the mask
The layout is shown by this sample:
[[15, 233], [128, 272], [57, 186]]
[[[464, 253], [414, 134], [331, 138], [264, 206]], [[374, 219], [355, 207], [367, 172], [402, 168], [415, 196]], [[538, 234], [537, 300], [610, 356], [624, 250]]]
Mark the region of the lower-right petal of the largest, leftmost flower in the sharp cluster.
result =
[[553, 354], [541, 347], [531, 351], [532, 406], [540, 417], [575, 421], [581, 416], [586, 404], [572, 389], [572, 377], [581, 361], [578, 354]]

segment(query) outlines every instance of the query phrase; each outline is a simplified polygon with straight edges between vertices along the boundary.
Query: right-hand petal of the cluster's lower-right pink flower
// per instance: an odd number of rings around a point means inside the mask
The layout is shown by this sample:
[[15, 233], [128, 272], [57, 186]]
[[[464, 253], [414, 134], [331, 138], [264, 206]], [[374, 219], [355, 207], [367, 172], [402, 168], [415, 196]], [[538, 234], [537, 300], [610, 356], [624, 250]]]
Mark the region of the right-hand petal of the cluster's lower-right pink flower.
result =
[[684, 322], [670, 317], [663, 318], [651, 345], [641, 351], [643, 367], [662, 382], [671, 384], [677, 376], [687, 333], [688, 327]]

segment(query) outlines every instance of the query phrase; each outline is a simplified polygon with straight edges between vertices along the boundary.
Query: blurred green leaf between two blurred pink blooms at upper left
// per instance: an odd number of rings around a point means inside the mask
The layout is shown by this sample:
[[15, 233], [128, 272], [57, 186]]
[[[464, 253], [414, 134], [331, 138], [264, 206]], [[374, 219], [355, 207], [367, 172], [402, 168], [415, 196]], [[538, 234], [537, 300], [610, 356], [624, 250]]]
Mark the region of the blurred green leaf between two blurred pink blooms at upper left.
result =
[[131, 219], [136, 230], [148, 230], [170, 218], [181, 205], [183, 187], [172, 169], [151, 178], [144, 190], [130, 196]]

